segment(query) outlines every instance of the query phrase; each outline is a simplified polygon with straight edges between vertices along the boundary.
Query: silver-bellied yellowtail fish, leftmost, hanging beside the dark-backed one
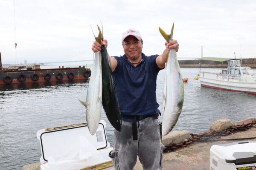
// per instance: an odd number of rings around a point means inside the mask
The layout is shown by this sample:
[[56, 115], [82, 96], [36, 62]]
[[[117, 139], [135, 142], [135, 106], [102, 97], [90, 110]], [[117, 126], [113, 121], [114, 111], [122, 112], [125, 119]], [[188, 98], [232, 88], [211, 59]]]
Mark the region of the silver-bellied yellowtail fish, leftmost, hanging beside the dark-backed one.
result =
[[[99, 29], [99, 26], [98, 26]], [[94, 35], [95, 37], [95, 35]], [[102, 32], [99, 29], [99, 36], [95, 37], [97, 42], [101, 42]], [[96, 52], [93, 60], [93, 70], [90, 76], [90, 81], [87, 89], [86, 102], [81, 101], [85, 106], [85, 117], [91, 135], [94, 135], [101, 116], [102, 108], [102, 54]]]

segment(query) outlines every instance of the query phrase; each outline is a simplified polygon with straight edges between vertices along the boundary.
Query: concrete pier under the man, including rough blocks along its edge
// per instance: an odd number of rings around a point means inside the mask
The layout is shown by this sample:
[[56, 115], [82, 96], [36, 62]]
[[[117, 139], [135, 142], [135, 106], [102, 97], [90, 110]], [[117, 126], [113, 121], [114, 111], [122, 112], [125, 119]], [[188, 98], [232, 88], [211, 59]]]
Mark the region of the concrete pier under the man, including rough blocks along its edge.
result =
[[[216, 125], [221, 125], [221, 128], [227, 128], [230, 125], [242, 125], [253, 122], [256, 118], [248, 119], [239, 123], [233, 124], [229, 119], [220, 119], [215, 121], [211, 130], [217, 130], [219, 127]], [[180, 133], [179, 133], [180, 132]], [[176, 134], [176, 135], [175, 135]], [[169, 138], [166, 143], [184, 140], [186, 138], [188, 131], [174, 131], [169, 133]], [[240, 139], [240, 140], [221, 140], [221, 141], [210, 141], [210, 142], [193, 142], [186, 147], [180, 147], [172, 152], [163, 153], [163, 170], [210, 170], [210, 153], [209, 149], [214, 144], [226, 144], [239, 141], [247, 141], [248, 139], [242, 138], [253, 138], [250, 141], [256, 141], [256, 126], [251, 127], [245, 131], [238, 131], [228, 136], [222, 136], [220, 139]], [[22, 170], [40, 170], [40, 162], [27, 164], [23, 166]], [[134, 170], [143, 170], [143, 166], [137, 159], [137, 163]]]

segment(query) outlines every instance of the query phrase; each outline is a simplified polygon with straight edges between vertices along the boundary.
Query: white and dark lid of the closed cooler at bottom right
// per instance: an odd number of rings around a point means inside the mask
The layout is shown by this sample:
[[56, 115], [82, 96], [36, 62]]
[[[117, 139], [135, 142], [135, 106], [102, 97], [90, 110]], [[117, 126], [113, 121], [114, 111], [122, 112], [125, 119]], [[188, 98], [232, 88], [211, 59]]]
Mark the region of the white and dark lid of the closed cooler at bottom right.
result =
[[212, 145], [211, 149], [226, 159], [227, 163], [236, 165], [256, 163], [256, 141], [217, 144]]

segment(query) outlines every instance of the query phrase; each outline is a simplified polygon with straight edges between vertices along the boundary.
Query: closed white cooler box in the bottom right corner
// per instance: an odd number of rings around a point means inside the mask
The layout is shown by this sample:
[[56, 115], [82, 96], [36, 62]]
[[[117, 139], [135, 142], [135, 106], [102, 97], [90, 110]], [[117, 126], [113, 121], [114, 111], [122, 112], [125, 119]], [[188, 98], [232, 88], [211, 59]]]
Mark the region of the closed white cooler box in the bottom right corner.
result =
[[256, 170], [256, 141], [212, 145], [210, 170]]

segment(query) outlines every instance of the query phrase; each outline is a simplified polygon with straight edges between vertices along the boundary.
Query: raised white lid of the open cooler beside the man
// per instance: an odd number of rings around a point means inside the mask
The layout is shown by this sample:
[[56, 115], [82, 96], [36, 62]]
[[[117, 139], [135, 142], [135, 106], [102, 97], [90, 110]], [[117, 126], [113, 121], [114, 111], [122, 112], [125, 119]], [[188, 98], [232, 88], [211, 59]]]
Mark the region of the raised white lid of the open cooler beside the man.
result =
[[48, 161], [49, 156], [79, 150], [80, 136], [86, 137], [97, 150], [109, 147], [105, 126], [106, 122], [100, 120], [94, 135], [90, 134], [87, 123], [38, 130], [37, 138], [40, 140], [43, 161]]

